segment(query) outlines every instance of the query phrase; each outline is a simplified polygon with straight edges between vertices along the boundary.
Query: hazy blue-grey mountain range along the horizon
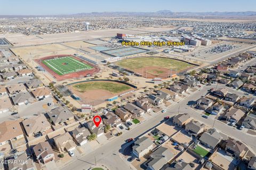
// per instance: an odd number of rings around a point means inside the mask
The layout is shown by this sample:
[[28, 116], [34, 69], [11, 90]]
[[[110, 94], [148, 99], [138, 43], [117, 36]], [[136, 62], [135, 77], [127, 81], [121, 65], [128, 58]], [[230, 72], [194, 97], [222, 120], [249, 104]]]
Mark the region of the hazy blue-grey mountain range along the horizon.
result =
[[16, 18], [16, 17], [86, 17], [86, 16], [169, 16], [175, 18], [186, 18], [186, 17], [200, 17], [205, 16], [206, 18], [219, 18], [221, 16], [225, 18], [232, 17], [248, 17], [256, 16], [256, 11], [245, 11], [245, 12], [172, 12], [169, 10], [162, 10], [157, 12], [91, 12], [91, 13], [77, 13], [77, 14], [66, 14], [66, 15], [0, 15], [1, 18]]

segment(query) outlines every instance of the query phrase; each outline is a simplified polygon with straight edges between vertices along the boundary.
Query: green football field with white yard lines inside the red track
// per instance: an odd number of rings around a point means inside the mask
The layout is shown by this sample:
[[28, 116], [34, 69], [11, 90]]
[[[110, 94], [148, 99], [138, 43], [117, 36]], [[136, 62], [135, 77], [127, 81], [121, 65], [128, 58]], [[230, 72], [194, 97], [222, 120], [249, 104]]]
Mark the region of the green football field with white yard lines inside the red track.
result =
[[93, 68], [93, 66], [82, 63], [71, 56], [52, 58], [42, 62], [58, 75], [90, 70]]

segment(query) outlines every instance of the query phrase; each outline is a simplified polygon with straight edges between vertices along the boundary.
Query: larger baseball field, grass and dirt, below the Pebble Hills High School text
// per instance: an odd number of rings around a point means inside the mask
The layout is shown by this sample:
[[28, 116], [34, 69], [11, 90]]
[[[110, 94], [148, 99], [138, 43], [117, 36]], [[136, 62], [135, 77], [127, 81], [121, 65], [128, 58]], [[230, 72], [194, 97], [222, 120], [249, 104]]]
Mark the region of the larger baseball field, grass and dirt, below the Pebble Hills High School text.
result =
[[147, 79], [168, 78], [172, 75], [194, 67], [194, 65], [163, 57], [135, 57], [115, 63], [135, 73], [139, 73]]

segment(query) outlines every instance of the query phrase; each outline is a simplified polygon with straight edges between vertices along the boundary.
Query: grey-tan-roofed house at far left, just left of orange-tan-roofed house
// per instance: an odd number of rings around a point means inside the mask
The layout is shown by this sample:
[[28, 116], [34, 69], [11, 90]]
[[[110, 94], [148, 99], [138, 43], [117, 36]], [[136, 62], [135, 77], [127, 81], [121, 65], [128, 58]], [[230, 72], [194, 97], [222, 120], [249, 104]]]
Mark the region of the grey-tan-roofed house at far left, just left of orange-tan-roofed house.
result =
[[14, 105], [27, 105], [33, 101], [33, 97], [29, 94], [29, 92], [20, 92], [19, 94], [15, 94], [11, 97]]

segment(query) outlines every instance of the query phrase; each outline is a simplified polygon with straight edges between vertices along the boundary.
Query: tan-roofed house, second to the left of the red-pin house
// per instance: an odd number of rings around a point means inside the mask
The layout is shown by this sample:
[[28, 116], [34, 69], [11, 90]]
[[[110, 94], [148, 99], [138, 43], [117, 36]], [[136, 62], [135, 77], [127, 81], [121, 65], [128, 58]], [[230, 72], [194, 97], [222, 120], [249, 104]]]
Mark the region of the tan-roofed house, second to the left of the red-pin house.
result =
[[55, 148], [60, 152], [68, 152], [76, 149], [76, 144], [68, 132], [54, 137], [53, 141]]

